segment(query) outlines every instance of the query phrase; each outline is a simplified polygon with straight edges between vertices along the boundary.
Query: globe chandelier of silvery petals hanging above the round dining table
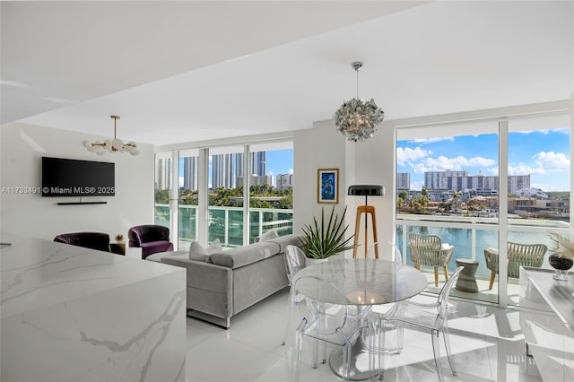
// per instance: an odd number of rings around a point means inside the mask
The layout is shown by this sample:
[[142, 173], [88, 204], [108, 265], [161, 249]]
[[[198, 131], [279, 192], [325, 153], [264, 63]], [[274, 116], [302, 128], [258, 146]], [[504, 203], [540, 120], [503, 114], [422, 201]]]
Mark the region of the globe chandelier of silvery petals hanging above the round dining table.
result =
[[335, 111], [337, 131], [352, 142], [363, 142], [371, 138], [385, 117], [385, 112], [378, 108], [375, 100], [359, 99], [359, 69], [361, 67], [361, 62], [352, 63], [352, 68], [357, 73], [357, 98], [345, 101]]

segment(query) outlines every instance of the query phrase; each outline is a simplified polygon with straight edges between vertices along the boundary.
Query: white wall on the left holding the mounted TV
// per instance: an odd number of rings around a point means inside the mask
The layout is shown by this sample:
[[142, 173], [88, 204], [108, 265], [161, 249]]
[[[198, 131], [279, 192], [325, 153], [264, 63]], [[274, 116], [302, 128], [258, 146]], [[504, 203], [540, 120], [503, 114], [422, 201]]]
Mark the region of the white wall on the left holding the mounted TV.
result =
[[39, 239], [54, 239], [65, 232], [98, 231], [127, 236], [135, 225], [153, 221], [153, 146], [138, 143], [140, 155], [87, 152], [84, 141], [100, 136], [21, 123], [0, 127], [0, 187], [40, 187], [41, 157], [53, 156], [116, 163], [116, 195], [92, 197], [108, 204], [57, 205], [79, 197], [42, 197], [39, 194], [0, 196], [0, 230]]

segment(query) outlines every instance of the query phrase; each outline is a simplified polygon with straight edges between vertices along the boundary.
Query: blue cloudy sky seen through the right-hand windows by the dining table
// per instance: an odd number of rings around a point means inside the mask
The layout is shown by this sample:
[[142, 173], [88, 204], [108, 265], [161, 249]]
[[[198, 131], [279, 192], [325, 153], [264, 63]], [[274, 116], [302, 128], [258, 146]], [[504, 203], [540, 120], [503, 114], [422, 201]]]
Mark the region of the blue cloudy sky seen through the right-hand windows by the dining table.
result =
[[[397, 172], [411, 173], [420, 190], [425, 171], [467, 170], [498, 175], [498, 135], [464, 135], [399, 141]], [[530, 187], [570, 190], [570, 128], [509, 133], [509, 175], [530, 174]]]

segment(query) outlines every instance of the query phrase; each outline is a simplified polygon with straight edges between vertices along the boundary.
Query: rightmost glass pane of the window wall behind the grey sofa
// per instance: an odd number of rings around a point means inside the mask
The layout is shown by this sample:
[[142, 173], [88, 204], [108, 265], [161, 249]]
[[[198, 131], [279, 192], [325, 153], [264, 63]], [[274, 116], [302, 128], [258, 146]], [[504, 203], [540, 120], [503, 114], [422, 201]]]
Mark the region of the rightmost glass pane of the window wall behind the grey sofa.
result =
[[249, 243], [293, 232], [293, 143], [258, 143], [249, 154]]

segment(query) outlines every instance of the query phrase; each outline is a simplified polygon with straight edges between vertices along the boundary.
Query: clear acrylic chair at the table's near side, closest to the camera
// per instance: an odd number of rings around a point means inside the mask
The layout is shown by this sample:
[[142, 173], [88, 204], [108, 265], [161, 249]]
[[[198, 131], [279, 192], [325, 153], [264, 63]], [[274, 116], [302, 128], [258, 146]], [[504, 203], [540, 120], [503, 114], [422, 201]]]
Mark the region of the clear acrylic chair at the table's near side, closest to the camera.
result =
[[[313, 288], [322, 291], [323, 295], [343, 297], [335, 285], [317, 276], [305, 276], [298, 278], [293, 289], [297, 290], [301, 282], [312, 282]], [[312, 341], [312, 367], [317, 368], [319, 358], [319, 343], [332, 345], [343, 350], [342, 378], [349, 381], [352, 369], [352, 345], [362, 336], [367, 340], [367, 349], [372, 349], [373, 325], [370, 315], [370, 307], [356, 307], [353, 305], [339, 305], [306, 298], [307, 314], [297, 327], [295, 342], [295, 360], [293, 379], [298, 381], [300, 376], [301, 352], [303, 340], [309, 338]], [[326, 352], [326, 346], [325, 346]], [[369, 380], [376, 375], [373, 370], [373, 355], [369, 353]], [[323, 363], [326, 363], [326, 356]]]

